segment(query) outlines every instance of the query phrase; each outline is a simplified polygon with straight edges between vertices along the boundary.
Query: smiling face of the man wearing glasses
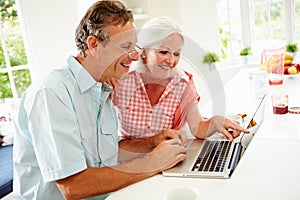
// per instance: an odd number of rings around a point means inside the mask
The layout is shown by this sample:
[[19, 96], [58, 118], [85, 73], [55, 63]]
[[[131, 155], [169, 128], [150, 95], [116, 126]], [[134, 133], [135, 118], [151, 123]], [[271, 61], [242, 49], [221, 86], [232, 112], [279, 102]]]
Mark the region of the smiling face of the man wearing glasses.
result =
[[110, 57], [111, 62], [101, 77], [103, 81], [109, 78], [120, 79], [128, 72], [131, 62], [138, 60], [138, 53], [135, 51], [137, 37], [133, 23], [128, 22], [124, 26], [109, 26], [108, 34], [110, 41], [106, 44], [106, 48], [109, 49], [107, 53], [110, 55], [104, 56]]

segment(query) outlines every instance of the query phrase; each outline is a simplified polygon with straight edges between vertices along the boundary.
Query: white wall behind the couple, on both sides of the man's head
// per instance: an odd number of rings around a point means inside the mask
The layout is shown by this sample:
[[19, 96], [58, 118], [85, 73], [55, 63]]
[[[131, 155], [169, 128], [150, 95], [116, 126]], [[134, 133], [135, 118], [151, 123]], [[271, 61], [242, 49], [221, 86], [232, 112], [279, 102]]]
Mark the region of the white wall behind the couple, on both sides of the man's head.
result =
[[[122, 1], [131, 5], [140, 2]], [[52, 68], [64, 65], [69, 55], [76, 55], [75, 28], [93, 2], [95, 0], [17, 0], [24, 19], [33, 81]], [[168, 15], [178, 20], [190, 41], [200, 46], [199, 51], [189, 49], [194, 51], [197, 65], [201, 65], [201, 47], [219, 49], [216, 0], [143, 0], [141, 5], [150, 16]]]

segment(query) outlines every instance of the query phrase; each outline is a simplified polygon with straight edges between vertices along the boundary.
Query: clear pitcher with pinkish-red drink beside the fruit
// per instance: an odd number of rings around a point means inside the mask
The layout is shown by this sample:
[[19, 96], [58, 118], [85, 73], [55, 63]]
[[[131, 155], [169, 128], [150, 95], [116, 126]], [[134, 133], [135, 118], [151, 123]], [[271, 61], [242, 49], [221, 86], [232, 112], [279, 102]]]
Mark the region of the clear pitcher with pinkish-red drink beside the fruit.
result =
[[261, 65], [268, 72], [270, 85], [283, 83], [285, 47], [264, 49], [261, 56]]

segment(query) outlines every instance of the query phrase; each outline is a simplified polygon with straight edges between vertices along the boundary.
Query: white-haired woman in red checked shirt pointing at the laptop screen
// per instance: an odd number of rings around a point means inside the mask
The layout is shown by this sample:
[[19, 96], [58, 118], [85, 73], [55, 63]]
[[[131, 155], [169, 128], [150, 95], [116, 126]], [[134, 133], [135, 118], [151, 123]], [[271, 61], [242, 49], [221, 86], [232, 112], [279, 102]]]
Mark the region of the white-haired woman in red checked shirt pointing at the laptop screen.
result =
[[113, 95], [122, 137], [150, 137], [181, 129], [186, 122], [197, 138], [218, 131], [232, 140], [241, 131], [248, 132], [230, 119], [201, 116], [192, 76], [177, 67], [183, 44], [179, 26], [169, 17], [153, 18], [140, 30], [141, 59], [119, 81]]

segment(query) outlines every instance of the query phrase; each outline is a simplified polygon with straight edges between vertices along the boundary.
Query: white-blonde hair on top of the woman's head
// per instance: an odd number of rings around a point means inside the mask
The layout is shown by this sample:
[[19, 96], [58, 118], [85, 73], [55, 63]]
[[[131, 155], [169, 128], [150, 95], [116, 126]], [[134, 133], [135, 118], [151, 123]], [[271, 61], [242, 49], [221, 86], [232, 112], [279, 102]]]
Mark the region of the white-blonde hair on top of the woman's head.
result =
[[138, 46], [141, 48], [159, 48], [163, 40], [177, 33], [184, 37], [178, 23], [167, 16], [155, 17], [147, 21], [138, 33]]

